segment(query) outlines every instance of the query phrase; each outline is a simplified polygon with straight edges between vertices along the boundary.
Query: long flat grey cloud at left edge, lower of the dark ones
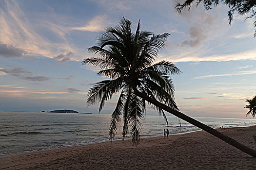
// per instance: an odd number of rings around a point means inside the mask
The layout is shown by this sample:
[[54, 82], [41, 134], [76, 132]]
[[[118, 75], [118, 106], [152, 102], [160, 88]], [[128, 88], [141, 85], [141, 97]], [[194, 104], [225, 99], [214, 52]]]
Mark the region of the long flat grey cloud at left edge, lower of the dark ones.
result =
[[[1, 74], [2, 73], [2, 74]], [[11, 76], [19, 77], [20, 79], [33, 81], [33, 82], [42, 82], [47, 81], [50, 78], [45, 76], [33, 76], [31, 71], [28, 71], [24, 68], [0, 68], [0, 75], [9, 74]]]

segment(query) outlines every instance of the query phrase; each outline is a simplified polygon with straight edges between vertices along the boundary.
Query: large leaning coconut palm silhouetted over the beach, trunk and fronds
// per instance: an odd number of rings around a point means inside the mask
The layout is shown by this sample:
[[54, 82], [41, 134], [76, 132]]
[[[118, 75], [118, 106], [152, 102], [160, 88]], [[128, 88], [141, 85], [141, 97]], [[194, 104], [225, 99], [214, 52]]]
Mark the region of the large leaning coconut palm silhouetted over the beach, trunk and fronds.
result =
[[243, 152], [256, 156], [255, 150], [178, 111], [170, 74], [179, 74], [181, 71], [169, 61], [154, 64], [155, 57], [164, 48], [170, 34], [141, 31], [139, 22], [136, 33], [132, 33], [131, 25], [132, 23], [123, 17], [117, 27], [106, 28], [98, 36], [98, 46], [88, 49], [91, 53], [99, 54], [99, 57], [87, 58], [82, 62], [100, 67], [98, 75], [109, 78], [89, 89], [89, 104], [100, 102], [100, 112], [107, 100], [120, 93], [117, 106], [112, 113], [110, 139], [115, 136], [118, 122], [121, 120], [120, 115], [123, 114], [123, 132], [128, 132], [128, 124], [131, 123], [132, 141], [135, 145], [138, 144], [147, 101], [163, 115], [166, 124], [168, 121], [164, 110]]

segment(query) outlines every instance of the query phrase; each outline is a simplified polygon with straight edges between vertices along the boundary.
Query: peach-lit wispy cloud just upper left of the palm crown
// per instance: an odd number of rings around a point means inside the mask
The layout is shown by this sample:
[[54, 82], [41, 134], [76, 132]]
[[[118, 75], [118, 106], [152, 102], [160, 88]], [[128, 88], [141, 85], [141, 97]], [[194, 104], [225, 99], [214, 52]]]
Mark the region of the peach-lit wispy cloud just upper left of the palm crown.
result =
[[107, 17], [103, 16], [96, 16], [92, 18], [85, 26], [82, 27], [72, 27], [72, 30], [78, 31], [89, 31], [89, 32], [99, 32], [107, 25]]

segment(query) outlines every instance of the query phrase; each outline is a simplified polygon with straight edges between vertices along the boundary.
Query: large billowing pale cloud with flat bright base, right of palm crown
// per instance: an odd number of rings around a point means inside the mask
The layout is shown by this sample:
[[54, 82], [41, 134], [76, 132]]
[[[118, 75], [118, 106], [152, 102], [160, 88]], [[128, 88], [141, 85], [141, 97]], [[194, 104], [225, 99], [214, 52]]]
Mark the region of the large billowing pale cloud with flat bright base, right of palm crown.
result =
[[[180, 25], [175, 25], [175, 28], [180, 31], [187, 28], [185, 30], [186, 34], [173, 34], [172, 36], [175, 39], [178, 37], [180, 40], [174, 42], [172, 48], [166, 49], [167, 52], [160, 53], [159, 59], [171, 60], [174, 63], [255, 60], [255, 48], [248, 46], [247, 49], [243, 50], [241, 49], [243, 46], [236, 45], [236, 41], [232, 41], [234, 39], [230, 38], [230, 34], [233, 33], [233, 28], [228, 26], [223, 17], [220, 17], [221, 9], [221, 6], [213, 12], [200, 12], [197, 9], [195, 15], [189, 13], [192, 17], [181, 18], [180, 20], [187, 19], [187, 22], [184, 24], [178, 22]], [[180, 17], [183, 17], [183, 15]], [[209, 22], [206, 22], [207, 19], [209, 19]], [[248, 42], [246, 39], [243, 41]]]

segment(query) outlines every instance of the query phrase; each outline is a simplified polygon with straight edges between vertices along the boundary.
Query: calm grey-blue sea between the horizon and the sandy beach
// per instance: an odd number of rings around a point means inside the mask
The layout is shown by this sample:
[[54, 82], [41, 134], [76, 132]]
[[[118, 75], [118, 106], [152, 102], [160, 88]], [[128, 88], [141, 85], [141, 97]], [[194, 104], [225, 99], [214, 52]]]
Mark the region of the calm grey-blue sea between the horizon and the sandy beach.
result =
[[[109, 114], [74, 114], [0, 111], [0, 156], [14, 153], [49, 150], [108, 141]], [[161, 136], [163, 129], [170, 134], [200, 130], [174, 116], [167, 116], [169, 127], [160, 116], [145, 116], [141, 137]], [[195, 118], [212, 128], [256, 125], [256, 119]], [[122, 124], [116, 139], [121, 139]], [[130, 134], [127, 134], [130, 138]]]

